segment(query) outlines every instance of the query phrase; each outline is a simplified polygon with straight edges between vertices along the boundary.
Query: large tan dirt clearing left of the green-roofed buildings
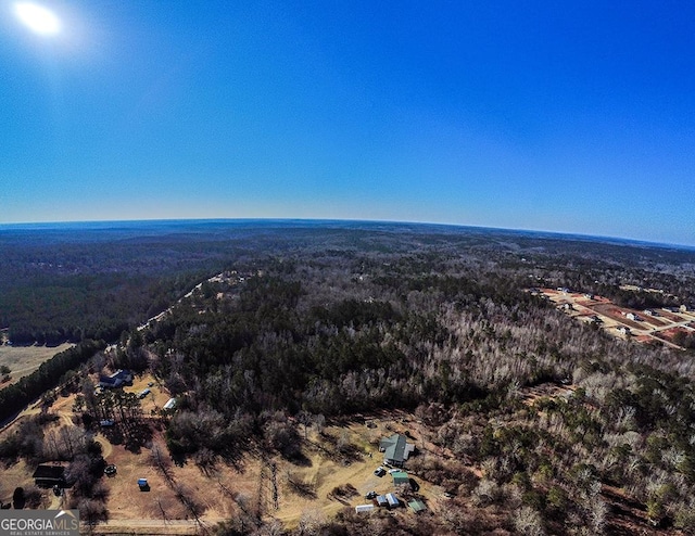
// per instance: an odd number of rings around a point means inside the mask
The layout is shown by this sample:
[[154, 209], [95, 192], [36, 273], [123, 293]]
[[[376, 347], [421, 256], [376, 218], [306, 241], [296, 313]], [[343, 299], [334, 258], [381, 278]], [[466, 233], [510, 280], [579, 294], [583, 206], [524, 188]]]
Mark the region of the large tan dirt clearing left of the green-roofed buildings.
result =
[[[287, 527], [296, 526], [305, 515], [330, 519], [343, 508], [370, 502], [364, 498], [368, 492], [395, 490], [389, 475], [374, 474], [382, 462], [378, 439], [392, 433], [387, 425], [393, 424], [394, 421], [387, 420], [376, 429], [368, 429], [364, 423], [350, 422], [327, 426], [324, 434], [311, 430], [305, 438], [302, 429], [303, 448], [299, 459], [287, 460], [277, 454], [266, 456], [255, 451], [244, 455], [236, 467], [218, 462], [205, 469], [197, 467], [193, 460], [182, 465], [172, 463], [162, 434], [155, 431], [153, 444], [166, 459], [164, 463], [174, 485], [155, 467], [151, 449], [134, 455], [123, 445], [113, 445], [106, 461], [116, 464], [118, 472], [113, 478], [104, 478], [109, 487], [110, 523], [97, 527], [97, 532], [125, 527], [128, 520], [159, 520], [162, 524], [191, 520], [190, 512], [177, 498], [179, 485], [198, 503], [201, 520], [207, 526], [238, 515], [241, 508], [252, 515], [275, 518]], [[350, 445], [344, 450], [348, 454], [339, 451], [340, 444]], [[138, 490], [137, 480], [142, 477], [148, 478], [148, 492]], [[430, 509], [435, 509], [442, 490], [420, 478], [417, 481], [421, 485], [419, 494], [429, 499]], [[341, 492], [337, 493], [338, 488], [342, 488]], [[403, 513], [407, 514], [405, 509]]]

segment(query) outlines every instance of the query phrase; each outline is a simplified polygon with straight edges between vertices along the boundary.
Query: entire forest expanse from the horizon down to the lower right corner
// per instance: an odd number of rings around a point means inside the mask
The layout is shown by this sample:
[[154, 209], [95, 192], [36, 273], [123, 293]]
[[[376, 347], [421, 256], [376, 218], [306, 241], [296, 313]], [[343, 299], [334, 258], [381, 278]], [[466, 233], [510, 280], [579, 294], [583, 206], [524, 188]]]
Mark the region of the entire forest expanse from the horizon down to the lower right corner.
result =
[[[345, 513], [314, 534], [611, 533], [607, 488], [621, 489], [655, 527], [695, 534], [695, 354], [610, 337], [529, 292], [570, 286], [639, 307], [692, 306], [695, 252], [437, 226], [274, 226], [15, 245], [2, 267], [23, 267], [12, 297], [21, 305], [0, 307], [2, 320], [12, 329], [24, 326], [23, 310], [41, 310], [28, 292], [38, 281], [68, 294], [75, 284], [85, 303], [103, 298], [103, 289], [116, 292], [108, 301], [134, 309], [106, 307], [92, 320], [129, 331], [98, 360], [150, 370], [178, 396], [166, 421], [177, 459], [231, 460], [258, 445], [291, 459], [300, 423], [399, 408], [465, 460], [413, 461], [412, 471], [453, 497], [445, 516], [405, 526]], [[113, 270], [90, 257], [104, 250], [122, 259]], [[39, 251], [53, 256], [50, 268], [27, 263]], [[68, 258], [74, 273], [51, 271], [65, 270]], [[206, 281], [177, 302], [204, 269], [243, 277]], [[92, 277], [131, 284], [78, 283]], [[168, 306], [148, 329], [134, 329]], [[39, 322], [63, 335], [77, 326], [72, 316], [36, 317], [39, 331]], [[529, 401], [539, 385], [565, 386], [566, 396]], [[88, 398], [85, 414], [103, 417]], [[242, 521], [218, 533], [248, 534]]]

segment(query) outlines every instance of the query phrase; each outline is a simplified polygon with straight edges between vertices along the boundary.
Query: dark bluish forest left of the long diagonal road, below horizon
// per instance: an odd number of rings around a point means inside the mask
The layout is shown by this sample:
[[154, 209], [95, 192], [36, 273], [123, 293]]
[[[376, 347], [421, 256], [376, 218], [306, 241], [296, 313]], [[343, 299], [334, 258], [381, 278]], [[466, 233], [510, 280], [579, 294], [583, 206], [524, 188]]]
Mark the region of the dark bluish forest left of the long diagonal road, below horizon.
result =
[[195, 238], [0, 230], [0, 327], [14, 344], [115, 341], [223, 266], [231, 248]]

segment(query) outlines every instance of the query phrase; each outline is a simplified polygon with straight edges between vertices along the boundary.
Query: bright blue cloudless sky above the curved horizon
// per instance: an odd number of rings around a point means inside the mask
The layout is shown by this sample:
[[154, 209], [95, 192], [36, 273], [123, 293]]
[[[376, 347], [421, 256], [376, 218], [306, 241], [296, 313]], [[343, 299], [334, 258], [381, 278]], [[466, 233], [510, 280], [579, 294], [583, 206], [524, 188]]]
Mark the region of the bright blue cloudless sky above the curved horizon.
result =
[[692, 2], [0, 2], [0, 222], [430, 221], [695, 245]]

